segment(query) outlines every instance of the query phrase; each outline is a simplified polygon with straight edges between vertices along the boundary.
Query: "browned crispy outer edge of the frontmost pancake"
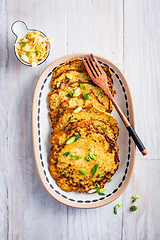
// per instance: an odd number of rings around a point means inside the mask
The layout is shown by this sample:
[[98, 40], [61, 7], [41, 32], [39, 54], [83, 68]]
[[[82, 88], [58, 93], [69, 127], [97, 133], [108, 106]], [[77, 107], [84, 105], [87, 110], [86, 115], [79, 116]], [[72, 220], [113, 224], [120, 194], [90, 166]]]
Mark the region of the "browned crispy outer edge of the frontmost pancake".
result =
[[[105, 136], [105, 140], [109, 143], [109, 146], [111, 147], [112, 151], [115, 151], [115, 155], [114, 155], [115, 169], [114, 169], [114, 170], [112, 169], [111, 172], [107, 172], [107, 177], [106, 177], [106, 176], [103, 176], [103, 177], [101, 178], [101, 180], [99, 180], [99, 179], [97, 179], [97, 178], [95, 179], [95, 177], [92, 178], [92, 181], [90, 181], [90, 180], [87, 181], [87, 179], [86, 179], [86, 184], [85, 184], [85, 186], [84, 186], [83, 184], [81, 184], [81, 183], [79, 183], [78, 186], [76, 185], [76, 187], [75, 187], [74, 185], [71, 185], [71, 184], [68, 185], [68, 184], [67, 184], [67, 178], [66, 178], [66, 176], [64, 176], [64, 175], [62, 176], [62, 174], [59, 175], [59, 174], [56, 172], [56, 165], [52, 163], [53, 155], [54, 155], [55, 152], [57, 152], [57, 150], [56, 150], [57, 147], [56, 147], [56, 146], [59, 145], [58, 142], [59, 142], [60, 139], [61, 139], [60, 136], [62, 136], [64, 133], [66, 134], [66, 136], [67, 136], [68, 138], [70, 138], [70, 137], [73, 135], [72, 132], [74, 133], [75, 130], [77, 130], [77, 127], [79, 127], [79, 128], [86, 128], [86, 130], [87, 130], [88, 128], [91, 128], [91, 126], [92, 126], [92, 130], [94, 129], [94, 130], [96, 131], [96, 133], [100, 134], [101, 136], [102, 136], [102, 135]], [[78, 133], [79, 133], [79, 132], [78, 132]], [[71, 134], [71, 135], [70, 135], [70, 134]], [[68, 135], [69, 135], [69, 136], [68, 136]], [[118, 170], [118, 168], [119, 168], [119, 154], [118, 154], [119, 148], [118, 148], [118, 146], [115, 144], [114, 141], [112, 141], [110, 138], [108, 138], [108, 136], [107, 136], [106, 134], [99, 132], [98, 129], [92, 124], [91, 121], [83, 121], [83, 122], [81, 122], [81, 123], [75, 124], [75, 126], [74, 126], [73, 129], [69, 132], [69, 134], [68, 134], [68, 131], [67, 131], [67, 132], [66, 132], [66, 131], [59, 132], [59, 134], [56, 134], [56, 135], [55, 135], [55, 141], [54, 141], [54, 142], [55, 142], [55, 147], [53, 147], [53, 151], [52, 151], [51, 154], [50, 154], [50, 163], [51, 163], [51, 165], [49, 166], [49, 170], [50, 170], [50, 173], [51, 173], [52, 177], [57, 180], [57, 185], [58, 185], [62, 190], [65, 190], [65, 191], [68, 191], [68, 192], [71, 192], [71, 191], [73, 191], [73, 190], [76, 190], [76, 191], [79, 191], [79, 192], [81, 192], [81, 193], [84, 193], [84, 192], [88, 192], [88, 191], [91, 190], [91, 189], [94, 189], [94, 188], [95, 188], [94, 183], [99, 184], [99, 185], [100, 185], [100, 188], [103, 188], [104, 185], [105, 185], [105, 183], [109, 180], [109, 178], [110, 178], [111, 176], [113, 176], [113, 175], [115, 174], [115, 172], [116, 172], [116, 171]], [[56, 142], [57, 142], [57, 143], [56, 143]], [[60, 145], [61, 145], [61, 144], [60, 144]], [[60, 148], [60, 151], [61, 151], [61, 149], [63, 148], [63, 145], [64, 145], [64, 143], [62, 144], [62, 147]], [[113, 149], [114, 149], [114, 150], [113, 150]], [[59, 151], [59, 150], [58, 150], [58, 151]], [[70, 176], [68, 176], [68, 177], [70, 177]], [[70, 178], [69, 178], [69, 179], [70, 179]]]

